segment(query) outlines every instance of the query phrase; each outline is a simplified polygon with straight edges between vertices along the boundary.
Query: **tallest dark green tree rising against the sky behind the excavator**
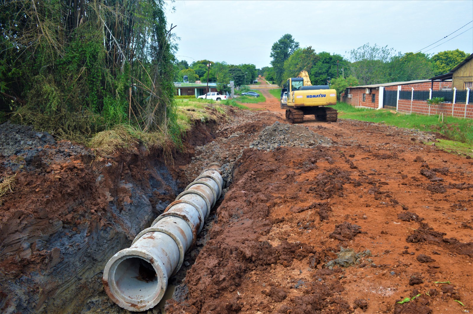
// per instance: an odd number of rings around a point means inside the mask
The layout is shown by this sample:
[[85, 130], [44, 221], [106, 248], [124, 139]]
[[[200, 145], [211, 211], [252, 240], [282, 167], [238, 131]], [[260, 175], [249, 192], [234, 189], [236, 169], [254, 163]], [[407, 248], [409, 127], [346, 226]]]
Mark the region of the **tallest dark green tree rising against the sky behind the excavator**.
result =
[[282, 85], [284, 76], [284, 61], [288, 60], [289, 56], [299, 48], [299, 43], [292, 38], [292, 35], [283, 35], [271, 47], [270, 57], [272, 58], [271, 65], [274, 68], [274, 78], [276, 84]]

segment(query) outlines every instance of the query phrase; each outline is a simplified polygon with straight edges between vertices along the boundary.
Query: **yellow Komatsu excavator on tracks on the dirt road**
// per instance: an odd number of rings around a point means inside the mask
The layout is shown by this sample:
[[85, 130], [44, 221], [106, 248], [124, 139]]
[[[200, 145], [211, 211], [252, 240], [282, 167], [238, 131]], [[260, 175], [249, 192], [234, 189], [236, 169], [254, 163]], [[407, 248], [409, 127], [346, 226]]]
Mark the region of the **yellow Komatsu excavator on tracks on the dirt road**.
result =
[[297, 78], [289, 78], [288, 109], [286, 119], [291, 123], [304, 122], [305, 115], [315, 115], [319, 121], [337, 121], [337, 110], [327, 106], [337, 104], [337, 92], [328, 85], [313, 86], [307, 71], [301, 71]]

